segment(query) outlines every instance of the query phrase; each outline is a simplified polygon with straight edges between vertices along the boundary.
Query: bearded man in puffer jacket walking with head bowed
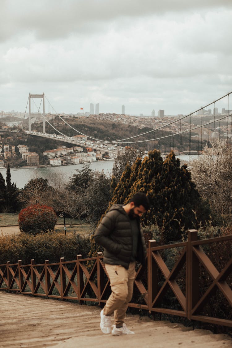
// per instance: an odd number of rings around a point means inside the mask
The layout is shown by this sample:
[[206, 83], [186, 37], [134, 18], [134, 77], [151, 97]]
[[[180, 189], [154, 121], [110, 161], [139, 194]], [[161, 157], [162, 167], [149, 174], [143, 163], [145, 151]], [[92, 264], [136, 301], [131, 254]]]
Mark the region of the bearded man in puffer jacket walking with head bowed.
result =
[[146, 245], [140, 228], [140, 217], [149, 208], [145, 193], [138, 192], [126, 205], [114, 204], [95, 231], [95, 242], [104, 247], [106, 271], [109, 275], [111, 295], [101, 311], [100, 327], [103, 333], [111, 332], [111, 315], [114, 313], [112, 335], [134, 334], [124, 319], [133, 295], [135, 262], [145, 264]]

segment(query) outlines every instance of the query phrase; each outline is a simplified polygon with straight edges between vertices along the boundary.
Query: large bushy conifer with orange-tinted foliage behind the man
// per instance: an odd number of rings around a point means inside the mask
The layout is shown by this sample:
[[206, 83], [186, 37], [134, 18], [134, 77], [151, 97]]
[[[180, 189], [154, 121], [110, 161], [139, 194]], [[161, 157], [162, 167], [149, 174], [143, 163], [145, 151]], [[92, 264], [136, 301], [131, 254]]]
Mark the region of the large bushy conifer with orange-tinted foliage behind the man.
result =
[[136, 192], [146, 193], [150, 201], [143, 223], [156, 222], [163, 231], [165, 243], [181, 239], [182, 229], [196, 227], [202, 217], [209, 219], [209, 204], [202, 200], [187, 166], [180, 166], [174, 152], [163, 161], [160, 152], [153, 150], [142, 162], [138, 159], [131, 170], [127, 166], [110, 206], [127, 203]]

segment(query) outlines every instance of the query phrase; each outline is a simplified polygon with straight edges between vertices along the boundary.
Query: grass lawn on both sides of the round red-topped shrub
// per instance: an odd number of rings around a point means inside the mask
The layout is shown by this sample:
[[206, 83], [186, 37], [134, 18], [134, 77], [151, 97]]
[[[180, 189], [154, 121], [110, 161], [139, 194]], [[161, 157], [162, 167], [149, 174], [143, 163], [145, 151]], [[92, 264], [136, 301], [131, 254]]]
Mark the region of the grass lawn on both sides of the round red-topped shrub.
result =
[[[66, 232], [77, 232], [79, 234], [89, 234], [90, 233], [90, 224], [83, 222], [81, 225], [79, 225], [78, 220], [74, 220], [72, 222], [73, 226], [69, 227], [69, 224], [71, 222], [71, 219], [69, 217], [65, 218], [65, 224], [66, 224]], [[57, 218], [57, 224], [64, 226], [64, 219], [63, 217]], [[4, 213], [0, 214], [0, 227], [5, 226], [18, 226], [18, 214], [10, 214], [10, 213]], [[56, 231], [64, 231], [64, 227], [61, 226], [59, 228], [56, 228]]]

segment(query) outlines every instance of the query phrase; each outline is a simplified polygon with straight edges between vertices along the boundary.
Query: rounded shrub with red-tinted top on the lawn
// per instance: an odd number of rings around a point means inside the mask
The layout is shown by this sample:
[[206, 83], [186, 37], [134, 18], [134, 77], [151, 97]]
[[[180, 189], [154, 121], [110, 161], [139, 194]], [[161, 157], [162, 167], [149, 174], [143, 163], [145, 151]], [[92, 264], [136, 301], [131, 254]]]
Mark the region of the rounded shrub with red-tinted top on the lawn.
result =
[[51, 231], [57, 223], [53, 208], [47, 205], [33, 204], [22, 209], [18, 215], [20, 231], [35, 235], [41, 231]]

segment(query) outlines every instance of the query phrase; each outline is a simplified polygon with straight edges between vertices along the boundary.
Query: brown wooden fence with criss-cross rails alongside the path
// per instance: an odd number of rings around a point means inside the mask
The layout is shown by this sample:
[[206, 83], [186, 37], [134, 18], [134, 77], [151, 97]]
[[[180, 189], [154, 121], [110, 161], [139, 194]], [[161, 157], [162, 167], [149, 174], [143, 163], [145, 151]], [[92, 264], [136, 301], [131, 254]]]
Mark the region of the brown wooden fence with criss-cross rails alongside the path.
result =
[[[171, 245], [157, 246], [149, 240], [147, 276], [140, 266], [134, 287], [137, 300], [129, 306], [232, 327], [232, 235], [198, 240], [197, 233], [189, 230], [187, 242]], [[214, 252], [214, 245], [221, 254]], [[100, 306], [109, 296], [110, 283], [98, 253], [95, 258], [77, 255], [76, 260], [61, 258], [58, 263], [1, 264], [0, 290]], [[213, 315], [212, 307], [220, 306], [222, 313]]]

